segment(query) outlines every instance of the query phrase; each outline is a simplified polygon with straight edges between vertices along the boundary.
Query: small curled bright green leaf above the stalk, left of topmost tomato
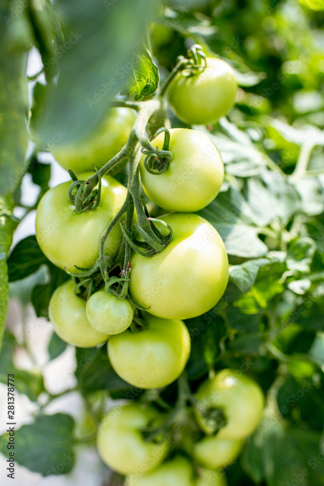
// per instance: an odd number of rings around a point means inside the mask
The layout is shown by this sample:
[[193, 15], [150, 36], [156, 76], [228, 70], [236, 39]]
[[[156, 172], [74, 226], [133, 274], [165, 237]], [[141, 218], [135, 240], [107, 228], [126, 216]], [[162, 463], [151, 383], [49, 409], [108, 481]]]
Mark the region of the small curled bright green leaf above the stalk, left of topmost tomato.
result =
[[141, 100], [144, 96], [152, 96], [157, 90], [160, 76], [151, 53], [146, 48], [144, 53], [138, 54], [132, 71], [133, 79], [127, 84], [128, 94], [135, 94], [136, 100]]

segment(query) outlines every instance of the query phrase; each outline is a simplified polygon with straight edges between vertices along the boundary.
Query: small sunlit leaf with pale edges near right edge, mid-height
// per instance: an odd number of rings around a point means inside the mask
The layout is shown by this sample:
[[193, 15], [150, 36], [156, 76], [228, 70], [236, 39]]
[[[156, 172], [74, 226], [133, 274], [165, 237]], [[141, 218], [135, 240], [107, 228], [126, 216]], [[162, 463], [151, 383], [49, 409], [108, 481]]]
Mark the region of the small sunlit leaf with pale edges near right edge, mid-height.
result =
[[310, 265], [316, 251], [316, 244], [310, 238], [296, 238], [290, 242], [286, 258], [290, 270], [309, 273]]

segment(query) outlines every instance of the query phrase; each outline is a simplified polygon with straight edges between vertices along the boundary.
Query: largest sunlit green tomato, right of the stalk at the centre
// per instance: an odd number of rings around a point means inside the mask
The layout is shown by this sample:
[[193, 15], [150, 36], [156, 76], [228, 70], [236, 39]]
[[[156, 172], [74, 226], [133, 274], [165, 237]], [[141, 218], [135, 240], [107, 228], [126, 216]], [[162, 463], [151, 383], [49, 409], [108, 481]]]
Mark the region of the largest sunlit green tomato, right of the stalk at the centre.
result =
[[228, 260], [222, 238], [197, 214], [173, 213], [160, 219], [172, 226], [173, 239], [153, 257], [133, 253], [130, 292], [159, 317], [201, 315], [217, 304], [227, 285]]

